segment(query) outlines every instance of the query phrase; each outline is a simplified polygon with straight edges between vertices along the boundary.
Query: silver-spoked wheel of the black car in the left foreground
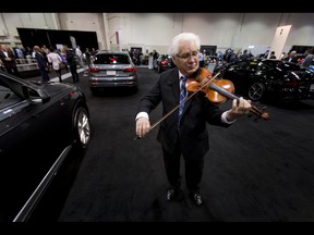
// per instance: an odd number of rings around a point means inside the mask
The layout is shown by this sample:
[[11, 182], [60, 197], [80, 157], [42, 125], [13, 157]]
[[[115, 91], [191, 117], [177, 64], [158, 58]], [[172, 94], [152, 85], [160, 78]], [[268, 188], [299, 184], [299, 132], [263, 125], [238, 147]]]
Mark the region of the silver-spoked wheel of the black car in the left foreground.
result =
[[90, 140], [90, 123], [89, 115], [85, 108], [80, 107], [74, 114], [74, 137], [75, 146], [78, 148], [87, 148]]

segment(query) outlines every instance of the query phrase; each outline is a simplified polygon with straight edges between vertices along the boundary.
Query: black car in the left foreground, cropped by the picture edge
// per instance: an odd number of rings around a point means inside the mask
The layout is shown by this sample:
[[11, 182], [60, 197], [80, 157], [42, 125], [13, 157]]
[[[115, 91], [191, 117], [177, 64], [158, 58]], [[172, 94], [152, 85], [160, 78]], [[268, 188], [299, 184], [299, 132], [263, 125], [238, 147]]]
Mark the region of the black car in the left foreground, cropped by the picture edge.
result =
[[64, 159], [89, 139], [78, 87], [0, 72], [0, 222], [27, 221]]

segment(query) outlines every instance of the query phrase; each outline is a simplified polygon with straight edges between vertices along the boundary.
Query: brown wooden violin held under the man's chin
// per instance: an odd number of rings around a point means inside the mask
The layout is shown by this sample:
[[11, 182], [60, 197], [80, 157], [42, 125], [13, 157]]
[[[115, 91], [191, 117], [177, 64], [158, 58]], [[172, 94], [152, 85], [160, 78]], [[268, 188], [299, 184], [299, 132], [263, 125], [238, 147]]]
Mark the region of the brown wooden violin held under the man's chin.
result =
[[[204, 67], [200, 67], [192, 77], [189, 77], [185, 82], [185, 88], [188, 91], [194, 94], [198, 91], [205, 92], [205, 96], [209, 101], [214, 103], [221, 103], [225, 102], [228, 98], [229, 99], [237, 99], [239, 100], [240, 97], [237, 97], [234, 92], [234, 86], [231, 81], [216, 78], [219, 75], [216, 74], [213, 77], [210, 71]], [[189, 97], [190, 97], [189, 96]], [[189, 98], [188, 97], [188, 98]], [[185, 100], [184, 100], [185, 101]], [[258, 110], [256, 107], [251, 104], [250, 112], [255, 114], [257, 118], [262, 120], [269, 120], [269, 114]]]

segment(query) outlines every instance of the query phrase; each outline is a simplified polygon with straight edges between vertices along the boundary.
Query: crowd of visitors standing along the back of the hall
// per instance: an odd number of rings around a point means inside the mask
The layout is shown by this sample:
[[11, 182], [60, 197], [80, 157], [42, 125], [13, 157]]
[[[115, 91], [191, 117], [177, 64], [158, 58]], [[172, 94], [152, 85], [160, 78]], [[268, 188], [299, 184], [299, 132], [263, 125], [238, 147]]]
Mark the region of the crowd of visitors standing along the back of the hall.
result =
[[[29, 47], [24, 48], [13, 48], [11, 49], [8, 45], [0, 45], [0, 66], [1, 70], [4, 72], [8, 72], [10, 74], [13, 74], [15, 76], [20, 76], [19, 69], [16, 64], [19, 64], [19, 60], [16, 59], [28, 59], [33, 58], [37, 60], [38, 67], [41, 73], [43, 82], [49, 81], [49, 72], [55, 71], [56, 75], [59, 77], [59, 81], [62, 82], [62, 70], [68, 73], [69, 71], [72, 74], [73, 83], [78, 81], [78, 77], [76, 76], [75, 71], [73, 70], [74, 66], [83, 67], [85, 65], [89, 65], [93, 55], [97, 52], [94, 48], [89, 50], [88, 48], [85, 49], [84, 52], [81, 51], [80, 46], [76, 46], [75, 49], [68, 48], [65, 45], [61, 48], [53, 48], [49, 47], [47, 48], [46, 45], [34, 46], [33, 49]], [[140, 65], [141, 57], [144, 57], [143, 53], [138, 49], [133, 49], [129, 51], [133, 62], [135, 65]], [[71, 59], [71, 54], [74, 55], [74, 60]], [[41, 60], [41, 57], [44, 60]], [[154, 50], [153, 51], [153, 60], [157, 60], [159, 53]], [[198, 61], [200, 66], [204, 67], [207, 66], [209, 63], [216, 63], [218, 62], [226, 64], [226, 63], [233, 63], [239, 60], [249, 60], [253, 57], [258, 58], [268, 58], [275, 59], [275, 60], [282, 60], [282, 61], [289, 61], [293, 63], [300, 63], [304, 67], [312, 69], [313, 64], [313, 49], [309, 48], [304, 53], [297, 53], [295, 50], [291, 50], [289, 53], [282, 52], [281, 55], [277, 57], [275, 54], [275, 51], [266, 51], [263, 54], [253, 55], [251, 51], [247, 49], [244, 49], [242, 52], [239, 51], [238, 53], [234, 52], [231, 48], [228, 48], [225, 53], [221, 51], [218, 51], [214, 54], [214, 57], [209, 57], [206, 54], [206, 51], [198, 51]], [[69, 63], [69, 60], [71, 63]], [[213, 61], [214, 60], [214, 61]], [[45, 65], [44, 65], [45, 63]], [[75, 65], [73, 66], [73, 63]], [[72, 69], [71, 69], [72, 67]], [[216, 67], [217, 69], [217, 67]]]

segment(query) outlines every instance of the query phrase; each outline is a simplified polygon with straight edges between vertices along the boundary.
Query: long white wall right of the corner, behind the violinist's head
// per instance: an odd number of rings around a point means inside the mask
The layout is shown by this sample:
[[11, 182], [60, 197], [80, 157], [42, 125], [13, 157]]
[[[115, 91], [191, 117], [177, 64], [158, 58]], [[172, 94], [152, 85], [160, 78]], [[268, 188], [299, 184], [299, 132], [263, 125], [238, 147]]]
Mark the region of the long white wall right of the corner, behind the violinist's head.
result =
[[[314, 45], [313, 13], [108, 13], [111, 34], [120, 29], [124, 47], [146, 45], [150, 51], [168, 51], [181, 32], [200, 35], [202, 45], [242, 50], [244, 45], [267, 48], [278, 26], [291, 24], [285, 49]], [[302, 36], [300, 36], [302, 35]]]

